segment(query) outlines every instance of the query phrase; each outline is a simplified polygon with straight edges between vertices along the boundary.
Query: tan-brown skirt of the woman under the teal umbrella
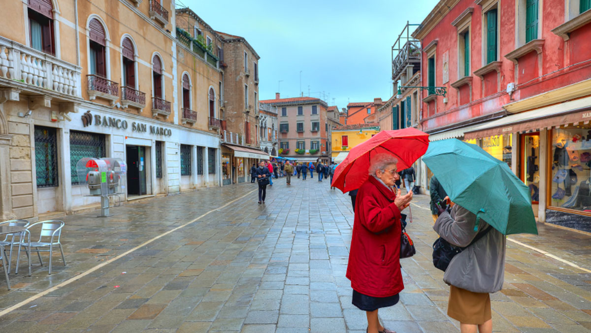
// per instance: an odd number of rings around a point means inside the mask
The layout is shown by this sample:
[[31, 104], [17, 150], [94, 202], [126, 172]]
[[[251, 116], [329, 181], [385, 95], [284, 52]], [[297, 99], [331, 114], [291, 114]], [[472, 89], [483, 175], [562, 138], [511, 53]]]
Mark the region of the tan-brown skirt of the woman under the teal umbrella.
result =
[[492, 318], [491, 295], [449, 286], [447, 315], [463, 324], [484, 324]]

